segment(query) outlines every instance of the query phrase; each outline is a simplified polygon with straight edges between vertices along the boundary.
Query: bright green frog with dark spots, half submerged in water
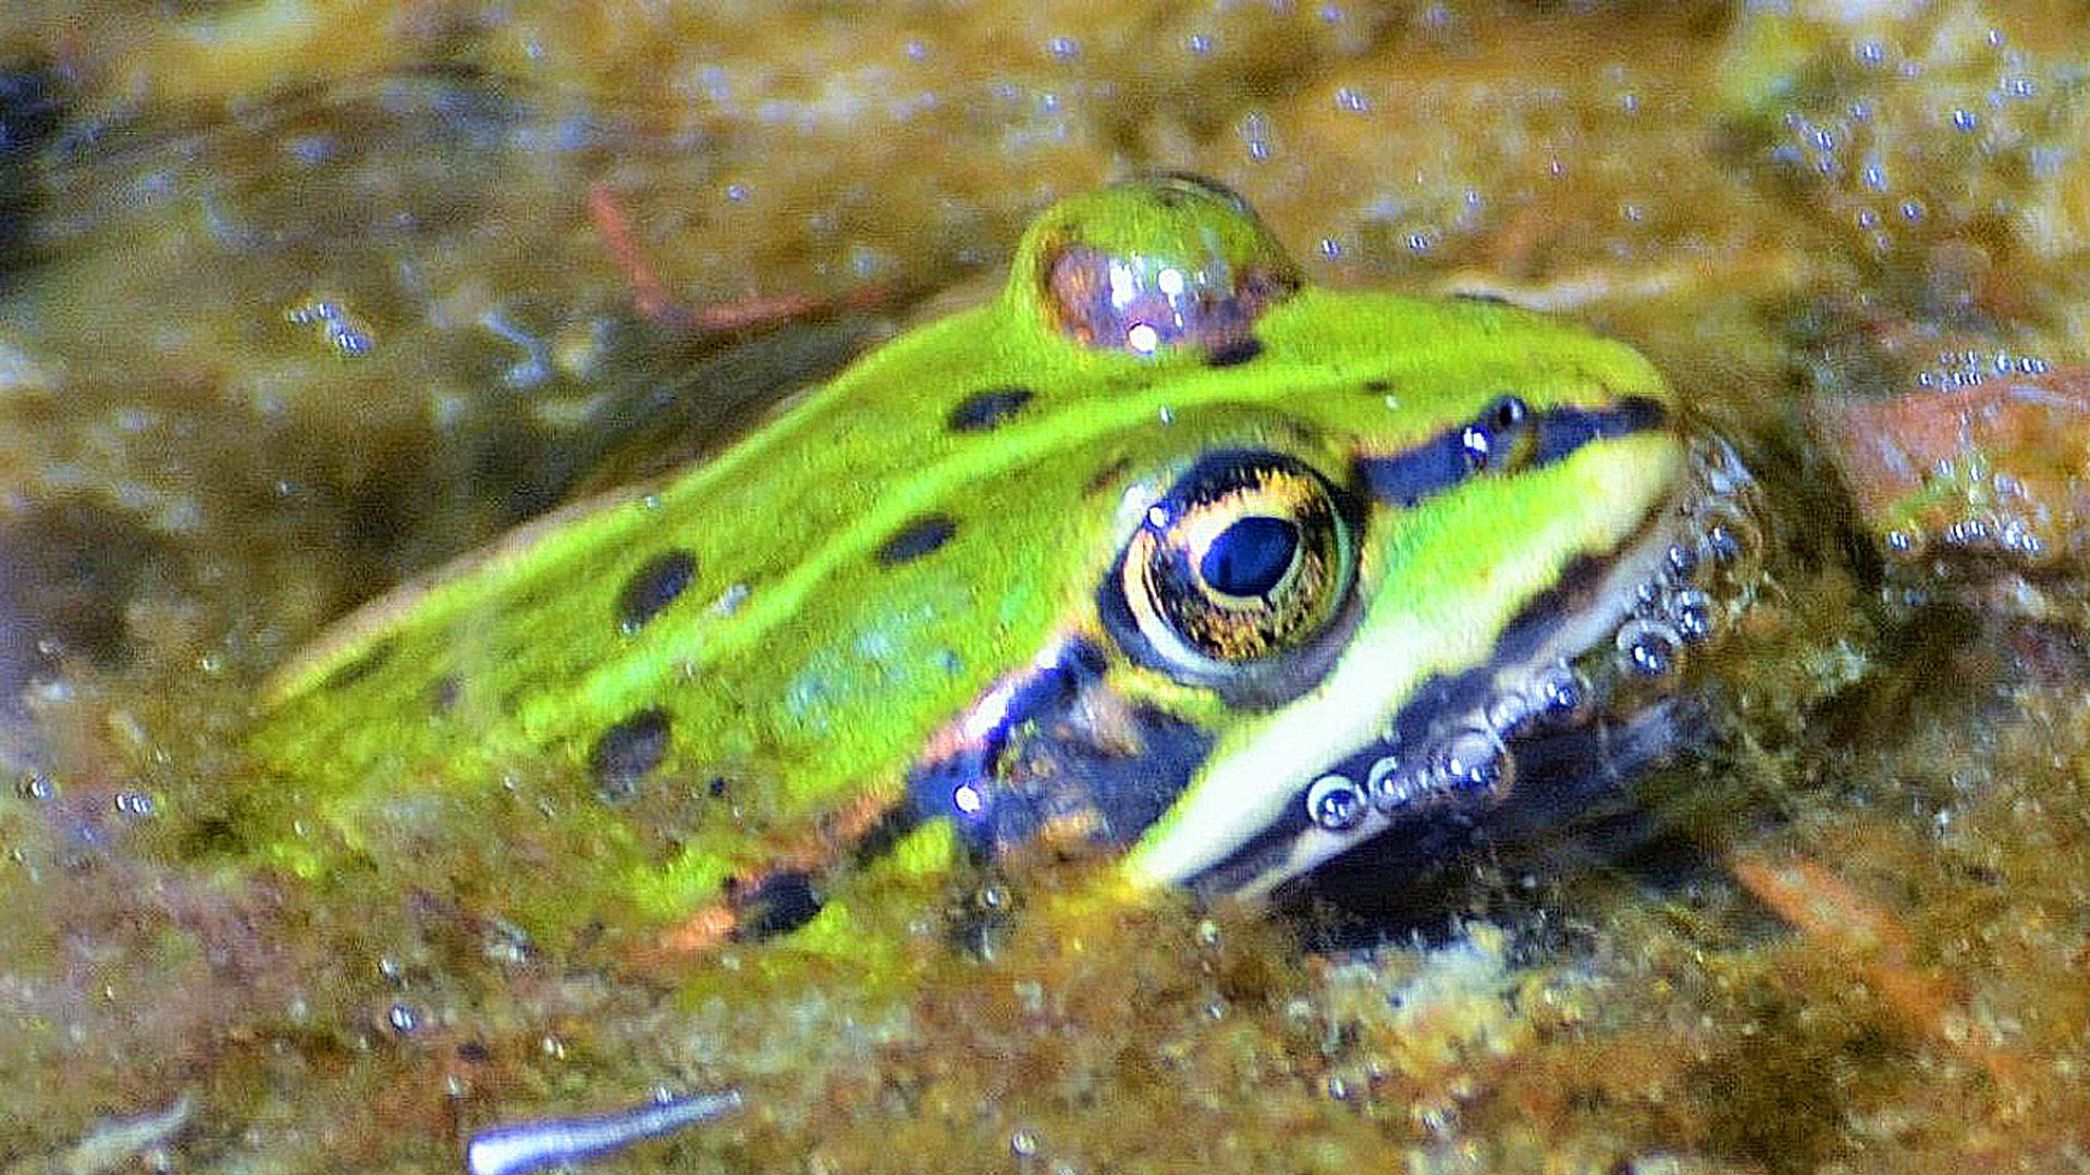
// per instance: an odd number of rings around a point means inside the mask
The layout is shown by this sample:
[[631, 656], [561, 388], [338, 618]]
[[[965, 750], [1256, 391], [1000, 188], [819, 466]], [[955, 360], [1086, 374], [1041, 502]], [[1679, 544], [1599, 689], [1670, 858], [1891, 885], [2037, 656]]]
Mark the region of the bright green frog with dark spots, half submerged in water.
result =
[[677, 951], [855, 949], [853, 903], [968, 857], [1260, 897], [1659, 757], [1751, 493], [1630, 347], [1317, 289], [1233, 192], [1141, 178], [1039, 215], [984, 305], [282, 667], [265, 853], [318, 878], [508, 788], [579, 847], [543, 918]]

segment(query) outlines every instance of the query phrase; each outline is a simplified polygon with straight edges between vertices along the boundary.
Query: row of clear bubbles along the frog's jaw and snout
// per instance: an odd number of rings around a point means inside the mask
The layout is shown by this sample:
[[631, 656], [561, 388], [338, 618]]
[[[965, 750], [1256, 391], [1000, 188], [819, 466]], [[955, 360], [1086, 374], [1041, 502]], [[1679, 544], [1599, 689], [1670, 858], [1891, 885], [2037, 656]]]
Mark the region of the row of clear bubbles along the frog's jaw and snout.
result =
[[1501, 797], [1515, 784], [1517, 738], [1582, 725], [1599, 713], [1634, 713], [1674, 686], [1691, 648], [1747, 608], [1764, 535], [1756, 489], [1720, 441], [1695, 441], [1693, 491], [1676, 506], [1680, 533], [1632, 592], [1609, 640], [1499, 688], [1415, 755], [1388, 748], [1363, 780], [1331, 771], [1306, 788], [1306, 815], [1354, 832], [1373, 811], [1394, 815], [1432, 801]]

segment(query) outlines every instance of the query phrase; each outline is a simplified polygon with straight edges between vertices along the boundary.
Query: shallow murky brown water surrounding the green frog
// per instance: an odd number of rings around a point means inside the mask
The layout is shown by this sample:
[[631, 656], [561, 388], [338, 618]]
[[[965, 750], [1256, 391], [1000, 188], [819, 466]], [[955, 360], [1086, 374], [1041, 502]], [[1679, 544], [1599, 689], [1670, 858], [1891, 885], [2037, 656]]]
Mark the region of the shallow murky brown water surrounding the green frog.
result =
[[[1816, 435], [1969, 353], [2084, 362], [2086, 21], [0, 13], [0, 1171], [445, 1169], [725, 1085], [604, 1167], [2090, 1167], [2084, 569], [1896, 556]], [[1724, 738], [1630, 853], [1463, 863], [1377, 949], [930, 901], [876, 981], [531, 939], [474, 828], [412, 882], [240, 855], [240, 730], [328, 619], [711, 450], [1133, 167], [1239, 188], [1315, 280], [1624, 337], [1764, 479]]]

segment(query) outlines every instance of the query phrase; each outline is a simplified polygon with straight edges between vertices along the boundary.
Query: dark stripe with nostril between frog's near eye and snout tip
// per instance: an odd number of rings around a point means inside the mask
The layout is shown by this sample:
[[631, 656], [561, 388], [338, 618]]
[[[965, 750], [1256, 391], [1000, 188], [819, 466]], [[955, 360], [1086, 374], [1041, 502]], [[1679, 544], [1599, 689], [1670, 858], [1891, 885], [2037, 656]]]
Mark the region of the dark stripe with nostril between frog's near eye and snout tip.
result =
[[[1356, 458], [1356, 477], [1365, 491], [1392, 506], [1415, 506], [1482, 473], [1486, 466], [1473, 460], [1471, 431], [1492, 427], [1496, 404], [1501, 401], [1488, 404], [1478, 418], [1461, 420], [1398, 454]], [[1559, 406], [1532, 412], [1519, 422], [1534, 437], [1524, 466], [1547, 466], [1590, 441], [1666, 424], [1668, 410], [1662, 401], [1643, 395], [1628, 395], [1609, 408]]]

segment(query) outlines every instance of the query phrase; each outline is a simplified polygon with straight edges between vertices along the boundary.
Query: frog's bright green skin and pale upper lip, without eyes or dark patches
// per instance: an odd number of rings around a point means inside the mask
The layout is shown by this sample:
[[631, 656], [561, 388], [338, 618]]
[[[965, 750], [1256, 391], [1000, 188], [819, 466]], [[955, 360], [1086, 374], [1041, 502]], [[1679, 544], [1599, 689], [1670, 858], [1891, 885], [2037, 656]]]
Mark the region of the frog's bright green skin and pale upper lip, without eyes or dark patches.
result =
[[[1175, 884], [1298, 803], [1419, 682], [1484, 665], [1572, 560], [1624, 544], [1682, 477], [1680, 437], [1651, 429], [1415, 506], [1361, 498], [1340, 654], [1283, 705], [1227, 700], [1135, 663], [1097, 615], [1145, 508], [1202, 454], [1269, 450], [1354, 487], [1361, 456], [1421, 445], [1503, 393], [1538, 412], [1670, 393], [1632, 349], [1538, 314], [1313, 286], [1260, 312], [1248, 362], [1085, 345], [1047, 282], [1068, 245], [1296, 282], [1246, 209], [1183, 182], [1049, 209], [989, 305], [909, 330], [715, 460], [562, 510], [378, 600], [286, 665], [253, 748], [303, 820], [265, 855], [320, 878], [341, 853], [385, 851], [380, 822], [405, 805], [520, 778], [585, 847], [568, 914], [667, 924], [819, 840], [821, 820], [901, 801], [968, 707], [1083, 636], [1106, 652], [1114, 696], [1214, 740], [1110, 870], [1129, 889]], [[949, 427], [999, 387], [1035, 397], [993, 429]], [[955, 525], [940, 548], [878, 558], [924, 516]], [[627, 581], [677, 548], [694, 579], [625, 631]], [[629, 832], [589, 767], [598, 740], [642, 711], [669, 734], [637, 788], [732, 780], [729, 809], [669, 847]], [[949, 822], [928, 822], [876, 876], [938, 876], [953, 857]], [[844, 939], [846, 903], [830, 899], [794, 937]]]

